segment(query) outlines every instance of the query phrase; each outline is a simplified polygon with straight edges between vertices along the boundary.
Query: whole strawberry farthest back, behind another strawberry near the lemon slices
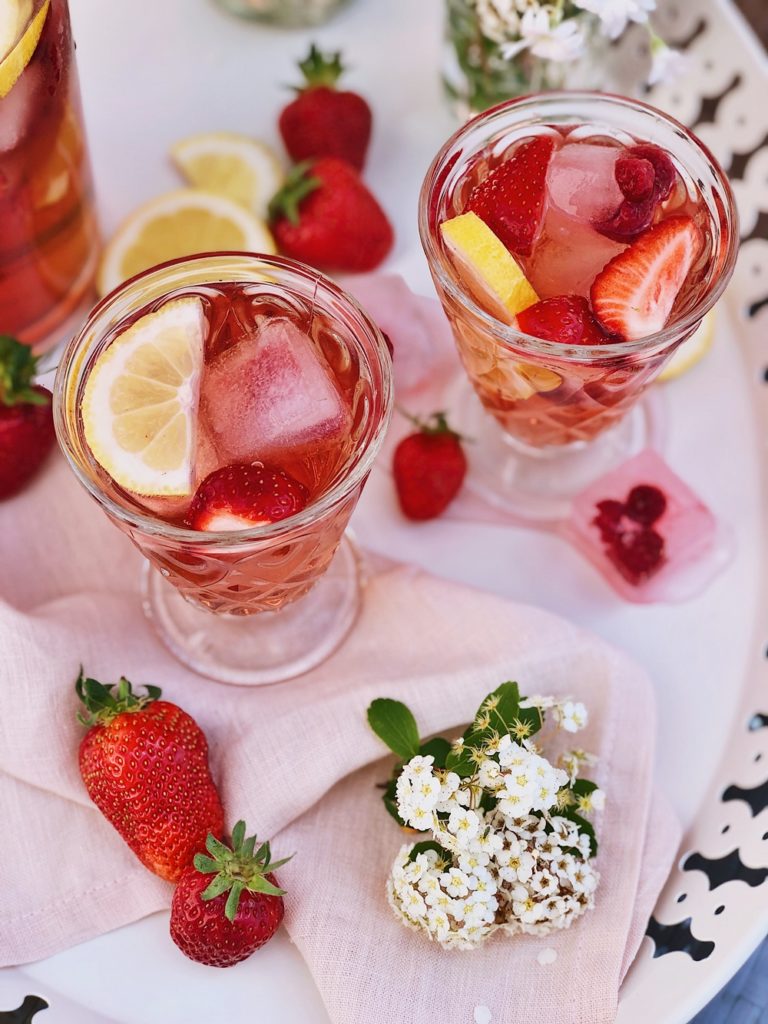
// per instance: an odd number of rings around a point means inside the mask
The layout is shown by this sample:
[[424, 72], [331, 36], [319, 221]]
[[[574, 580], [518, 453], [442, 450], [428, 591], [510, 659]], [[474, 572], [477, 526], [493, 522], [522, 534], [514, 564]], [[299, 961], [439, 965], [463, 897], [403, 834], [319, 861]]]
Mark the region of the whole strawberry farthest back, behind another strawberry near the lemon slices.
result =
[[295, 162], [339, 157], [362, 170], [371, 138], [371, 108], [356, 92], [340, 92], [341, 53], [322, 53], [312, 44], [299, 63], [305, 84], [280, 116], [280, 132]]

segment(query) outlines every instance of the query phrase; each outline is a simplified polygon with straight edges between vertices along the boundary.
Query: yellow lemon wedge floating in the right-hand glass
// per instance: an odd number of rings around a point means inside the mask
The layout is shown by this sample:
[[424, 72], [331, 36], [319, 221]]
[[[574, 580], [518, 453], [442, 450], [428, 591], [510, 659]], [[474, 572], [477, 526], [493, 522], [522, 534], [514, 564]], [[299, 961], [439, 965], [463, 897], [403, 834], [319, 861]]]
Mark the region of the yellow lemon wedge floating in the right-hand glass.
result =
[[481, 304], [504, 323], [539, 301], [517, 260], [476, 213], [440, 224], [459, 272]]

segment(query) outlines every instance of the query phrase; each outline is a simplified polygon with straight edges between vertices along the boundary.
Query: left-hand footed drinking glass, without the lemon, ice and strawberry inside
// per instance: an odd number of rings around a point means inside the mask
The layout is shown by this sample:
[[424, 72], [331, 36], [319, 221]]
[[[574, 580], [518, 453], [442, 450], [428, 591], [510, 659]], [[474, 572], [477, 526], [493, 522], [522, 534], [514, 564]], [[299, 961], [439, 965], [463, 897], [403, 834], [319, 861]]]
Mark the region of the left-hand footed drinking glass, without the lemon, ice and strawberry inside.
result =
[[[351, 436], [341, 468], [298, 514], [203, 532], [142, 511], [121, 494], [87, 445], [81, 407], [90, 368], [127, 317], [147, 303], [231, 283], [272, 307], [301, 310], [307, 330], [314, 317], [330, 325], [323, 350], [353, 395]], [[63, 353], [53, 401], [59, 444], [75, 474], [147, 560], [144, 611], [182, 662], [226, 682], [272, 683], [307, 672], [339, 646], [361, 600], [359, 559], [344, 535], [389, 422], [392, 378], [381, 332], [336, 284], [293, 260], [244, 253], [150, 269], [92, 311]]]

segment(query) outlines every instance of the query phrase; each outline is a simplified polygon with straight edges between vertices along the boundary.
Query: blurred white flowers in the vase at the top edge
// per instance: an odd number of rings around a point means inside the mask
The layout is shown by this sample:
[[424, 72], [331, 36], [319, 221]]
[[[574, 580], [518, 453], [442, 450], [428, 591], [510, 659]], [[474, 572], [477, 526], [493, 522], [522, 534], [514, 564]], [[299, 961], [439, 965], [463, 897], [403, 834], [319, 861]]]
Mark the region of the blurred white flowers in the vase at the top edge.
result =
[[[565, 15], [560, 2], [545, 0], [470, 0], [482, 35], [499, 44], [506, 59], [523, 50], [544, 60], [567, 61], [580, 57], [596, 26], [617, 39], [631, 23], [647, 25], [656, 0], [572, 0], [574, 14]], [[649, 82], [677, 74], [681, 55], [651, 33], [652, 66]]]

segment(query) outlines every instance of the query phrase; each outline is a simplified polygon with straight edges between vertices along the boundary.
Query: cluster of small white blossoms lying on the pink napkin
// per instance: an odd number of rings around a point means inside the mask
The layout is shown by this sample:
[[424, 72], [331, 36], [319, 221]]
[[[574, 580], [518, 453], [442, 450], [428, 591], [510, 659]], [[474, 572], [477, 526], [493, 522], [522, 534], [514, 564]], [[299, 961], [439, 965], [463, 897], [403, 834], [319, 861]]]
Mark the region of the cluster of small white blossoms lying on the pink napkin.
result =
[[[569, 731], [587, 721], [584, 706], [572, 701], [523, 705], [552, 710]], [[604, 806], [600, 790], [570, 788], [591, 760], [572, 751], [556, 767], [529, 740], [510, 735], [486, 742], [467, 778], [436, 769], [432, 757], [412, 758], [397, 779], [397, 810], [434, 842], [397, 854], [387, 896], [398, 918], [460, 949], [499, 929], [546, 935], [568, 928], [594, 905], [599, 879], [589, 862], [590, 836], [563, 816], [568, 808], [589, 814]]]

